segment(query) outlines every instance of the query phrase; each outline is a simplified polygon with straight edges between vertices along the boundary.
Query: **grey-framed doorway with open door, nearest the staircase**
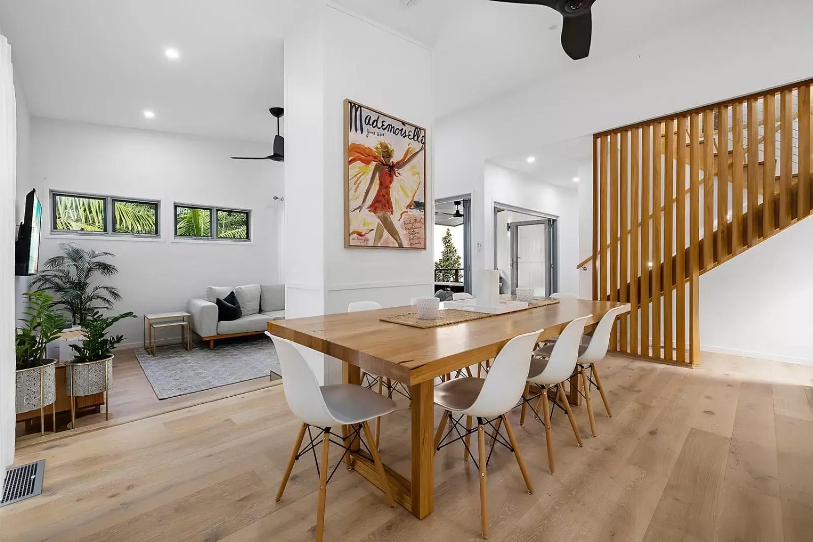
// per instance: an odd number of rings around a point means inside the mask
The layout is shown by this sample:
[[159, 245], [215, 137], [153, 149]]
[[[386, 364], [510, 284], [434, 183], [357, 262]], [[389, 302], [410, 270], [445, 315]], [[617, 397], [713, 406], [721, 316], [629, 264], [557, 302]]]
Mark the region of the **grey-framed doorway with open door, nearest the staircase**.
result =
[[559, 291], [556, 223], [537, 210], [494, 204], [494, 268], [500, 293], [534, 288], [537, 297]]

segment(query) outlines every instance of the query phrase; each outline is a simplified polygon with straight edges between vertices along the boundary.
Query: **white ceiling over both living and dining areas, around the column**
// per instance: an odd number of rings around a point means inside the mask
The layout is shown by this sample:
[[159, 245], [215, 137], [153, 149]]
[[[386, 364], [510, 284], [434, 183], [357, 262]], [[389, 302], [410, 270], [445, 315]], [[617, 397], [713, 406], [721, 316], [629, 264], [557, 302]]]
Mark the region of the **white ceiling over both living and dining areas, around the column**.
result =
[[[489, 0], [337, 0], [434, 49], [437, 116], [576, 67], [559, 45], [561, 16]], [[714, 0], [715, 7], [734, 0]], [[702, 16], [709, 0], [601, 0], [600, 62], [658, 25]], [[0, 24], [33, 115], [271, 141], [282, 103], [285, 33], [315, 0], [19, 0]], [[182, 57], [170, 62], [166, 46]], [[397, 63], [398, 59], [393, 59]], [[541, 97], [545, 99], [545, 97]], [[145, 108], [155, 119], [141, 116]]]

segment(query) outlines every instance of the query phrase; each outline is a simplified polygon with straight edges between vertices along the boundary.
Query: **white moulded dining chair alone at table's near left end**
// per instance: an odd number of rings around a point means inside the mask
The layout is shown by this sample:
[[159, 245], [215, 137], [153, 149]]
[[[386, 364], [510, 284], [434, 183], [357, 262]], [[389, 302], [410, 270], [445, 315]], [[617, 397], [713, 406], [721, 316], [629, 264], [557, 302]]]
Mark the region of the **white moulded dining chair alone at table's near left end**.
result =
[[[285, 486], [290, 478], [291, 470], [293, 470], [293, 463], [306, 453], [311, 453], [311, 451], [313, 451], [315, 457], [315, 448], [321, 444], [321, 466], [319, 462], [316, 462], [316, 472], [320, 476], [319, 505], [316, 509], [316, 541], [322, 542], [324, 536], [324, 507], [328, 482], [330, 481], [330, 476], [328, 476], [328, 455], [329, 444], [331, 443], [345, 450], [337, 463], [338, 466], [350, 451], [348, 444], [358, 440], [367, 449], [372, 456], [373, 462], [375, 462], [387, 504], [395, 506], [384, 464], [381, 462], [381, 457], [372, 439], [370, 426], [367, 423], [372, 418], [379, 418], [393, 412], [395, 410], [395, 401], [355, 384], [320, 386], [316, 376], [311, 371], [311, 367], [308, 366], [302, 355], [302, 350], [305, 349], [304, 346], [272, 336], [269, 332], [265, 332], [265, 334], [274, 341], [274, 347], [280, 360], [285, 401], [288, 401], [293, 415], [302, 420], [302, 426], [299, 428], [297, 440], [293, 444], [288, 466], [285, 467], [285, 474], [282, 475], [280, 489], [276, 492], [276, 501], [280, 502], [282, 500], [282, 494], [285, 492]], [[333, 428], [341, 426], [348, 426], [347, 436], [342, 437], [341, 443], [331, 440]], [[320, 431], [315, 437], [311, 433], [311, 427]], [[311, 442], [305, 446], [304, 450], [300, 451], [306, 431]], [[362, 431], [367, 444], [364, 444], [362, 439]], [[319, 441], [320, 435], [321, 442]], [[335, 471], [336, 468], [333, 469], [333, 472]]]

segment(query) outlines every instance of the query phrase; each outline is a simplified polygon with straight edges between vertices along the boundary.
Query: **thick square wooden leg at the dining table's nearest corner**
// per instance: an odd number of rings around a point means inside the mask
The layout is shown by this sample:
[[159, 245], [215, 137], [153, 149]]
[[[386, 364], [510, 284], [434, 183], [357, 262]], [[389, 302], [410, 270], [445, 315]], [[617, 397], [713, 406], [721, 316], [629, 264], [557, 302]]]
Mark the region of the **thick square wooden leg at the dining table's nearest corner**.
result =
[[412, 514], [423, 519], [433, 510], [434, 386], [432, 380], [410, 386], [412, 397]]

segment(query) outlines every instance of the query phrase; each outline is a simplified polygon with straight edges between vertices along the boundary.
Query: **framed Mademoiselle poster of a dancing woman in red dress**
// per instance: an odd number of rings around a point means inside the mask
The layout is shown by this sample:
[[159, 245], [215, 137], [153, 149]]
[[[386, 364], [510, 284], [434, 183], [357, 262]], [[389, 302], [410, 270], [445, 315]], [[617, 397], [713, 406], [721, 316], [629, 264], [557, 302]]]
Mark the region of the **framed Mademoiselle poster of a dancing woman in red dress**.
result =
[[345, 247], [426, 249], [426, 130], [345, 100]]

